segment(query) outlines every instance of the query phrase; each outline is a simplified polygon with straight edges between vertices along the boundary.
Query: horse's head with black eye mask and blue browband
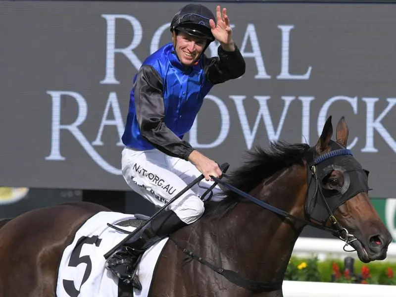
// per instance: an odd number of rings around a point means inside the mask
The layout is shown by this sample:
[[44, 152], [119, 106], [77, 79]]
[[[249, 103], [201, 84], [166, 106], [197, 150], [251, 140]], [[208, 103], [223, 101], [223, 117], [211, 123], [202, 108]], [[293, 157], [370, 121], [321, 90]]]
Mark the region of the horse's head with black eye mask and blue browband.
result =
[[356, 249], [362, 262], [382, 260], [392, 236], [370, 203], [368, 171], [347, 149], [344, 117], [337, 125], [336, 142], [331, 140], [332, 135], [330, 116], [309, 163], [306, 215], [311, 221], [338, 231]]

